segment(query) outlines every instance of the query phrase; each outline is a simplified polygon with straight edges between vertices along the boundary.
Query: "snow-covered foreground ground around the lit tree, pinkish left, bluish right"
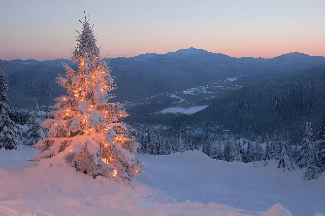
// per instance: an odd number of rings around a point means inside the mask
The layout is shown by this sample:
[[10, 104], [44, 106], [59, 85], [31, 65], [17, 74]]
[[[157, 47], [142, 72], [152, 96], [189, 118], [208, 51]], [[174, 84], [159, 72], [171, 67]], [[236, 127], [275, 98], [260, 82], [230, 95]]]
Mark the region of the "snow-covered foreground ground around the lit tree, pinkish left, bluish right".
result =
[[35, 166], [25, 161], [35, 154], [37, 151], [26, 147], [0, 149], [0, 215], [325, 213], [324, 176], [307, 182], [301, 180], [300, 171], [282, 173], [273, 166], [226, 163], [199, 151], [142, 155], [146, 173], [135, 179], [134, 189], [125, 189], [104, 177], [93, 179], [69, 167]]

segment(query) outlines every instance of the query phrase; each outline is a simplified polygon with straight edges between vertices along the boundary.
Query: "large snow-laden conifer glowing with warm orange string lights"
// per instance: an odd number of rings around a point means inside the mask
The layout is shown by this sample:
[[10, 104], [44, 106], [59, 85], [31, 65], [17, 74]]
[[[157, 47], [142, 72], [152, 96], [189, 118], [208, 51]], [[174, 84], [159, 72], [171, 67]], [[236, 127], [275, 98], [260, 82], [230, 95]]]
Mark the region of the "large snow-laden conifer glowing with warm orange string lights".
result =
[[68, 95], [55, 99], [55, 119], [44, 122], [48, 138], [35, 145], [41, 153], [33, 161], [50, 161], [51, 166], [65, 163], [94, 178], [101, 175], [130, 185], [132, 176], [143, 170], [134, 154], [138, 143], [128, 135], [128, 126], [119, 122], [127, 116], [123, 106], [107, 102], [115, 97], [111, 91], [117, 87], [88, 21], [86, 16], [80, 21], [82, 31], [77, 31], [78, 45], [73, 50], [78, 71], [64, 64], [66, 78], [60, 76], [57, 83]]

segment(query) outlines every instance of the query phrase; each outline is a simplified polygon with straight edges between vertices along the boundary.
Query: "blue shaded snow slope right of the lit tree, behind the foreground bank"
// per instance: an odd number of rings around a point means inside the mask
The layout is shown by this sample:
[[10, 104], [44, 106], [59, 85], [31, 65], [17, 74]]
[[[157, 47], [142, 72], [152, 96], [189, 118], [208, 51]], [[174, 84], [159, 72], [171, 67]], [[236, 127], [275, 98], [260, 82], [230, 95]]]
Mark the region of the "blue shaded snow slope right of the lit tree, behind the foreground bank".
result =
[[212, 160], [199, 151], [140, 157], [146, 164], [140, 181], [178, 202], [188, 199], [254, 211], [281, 203], [295, 216], [325, 214], [324, 175], [305, 181], [305, 170], [283, 172], [276, 161], [267, 167], [263, 166], [265, 162], [228, 163]]

